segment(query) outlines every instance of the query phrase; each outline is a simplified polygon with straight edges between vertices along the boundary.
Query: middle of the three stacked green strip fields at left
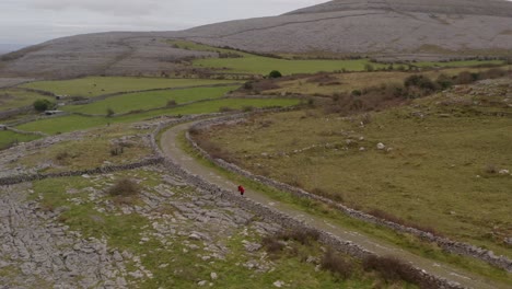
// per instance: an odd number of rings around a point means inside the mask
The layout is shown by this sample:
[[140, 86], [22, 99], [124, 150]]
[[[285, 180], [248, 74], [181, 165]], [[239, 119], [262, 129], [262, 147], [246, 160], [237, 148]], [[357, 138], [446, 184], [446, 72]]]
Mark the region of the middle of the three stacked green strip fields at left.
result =
[[84, 114], [106, 115], [107, 108], [110, 108], [116, 114], [123, 114], [138, 109], [165, 107], [168, 101], [175, 101], [176, 104], [183, 104], [200, 100], [218, 99], [235, 89], [237, 89], [237, 86], [130, 93], [108, 97], [106, 100], [85, 105], [65, 106], [62, 109]]

